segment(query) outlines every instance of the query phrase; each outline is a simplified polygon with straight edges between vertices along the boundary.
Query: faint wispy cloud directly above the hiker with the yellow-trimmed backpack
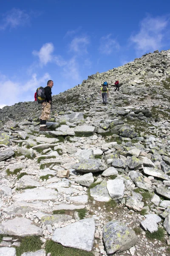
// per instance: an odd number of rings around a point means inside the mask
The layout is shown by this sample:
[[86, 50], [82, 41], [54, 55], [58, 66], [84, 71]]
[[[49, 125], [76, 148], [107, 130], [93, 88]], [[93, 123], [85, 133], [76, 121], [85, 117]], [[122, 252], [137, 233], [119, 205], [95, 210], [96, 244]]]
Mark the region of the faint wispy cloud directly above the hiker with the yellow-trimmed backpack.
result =
[[110, 55], [113, 51], [118, 50], [119, 48], [119, 43], [115, 39], [111, 38], [111, 34], [100, 38], [99, 51], [101, 53]]

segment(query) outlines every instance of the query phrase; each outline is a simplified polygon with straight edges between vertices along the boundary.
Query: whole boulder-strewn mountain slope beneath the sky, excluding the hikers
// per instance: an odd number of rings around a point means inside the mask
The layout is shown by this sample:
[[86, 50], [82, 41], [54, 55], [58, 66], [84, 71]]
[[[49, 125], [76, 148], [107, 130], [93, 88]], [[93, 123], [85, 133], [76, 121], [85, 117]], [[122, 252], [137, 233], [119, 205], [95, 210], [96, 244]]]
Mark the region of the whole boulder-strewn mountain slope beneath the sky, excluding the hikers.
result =
[[54, 95], [50, 131], [40, 113], [0, 109], [0, 256], [170, 255], [170, 50]]

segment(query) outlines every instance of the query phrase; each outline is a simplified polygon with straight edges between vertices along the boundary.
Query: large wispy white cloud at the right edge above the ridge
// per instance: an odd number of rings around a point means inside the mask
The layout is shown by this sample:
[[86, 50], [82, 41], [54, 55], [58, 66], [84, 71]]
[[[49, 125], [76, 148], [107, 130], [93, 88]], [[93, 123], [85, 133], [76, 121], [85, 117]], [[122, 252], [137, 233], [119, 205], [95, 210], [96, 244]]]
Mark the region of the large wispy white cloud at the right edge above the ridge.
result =
[[135, 48], [140, 53], [154, 51], [162, 47], [164, 29], [168, 23], [165, 17], [147, 16], [140, 23], [140, 30], [136, 35], [130, 37], [130, 41], [135, 44]]

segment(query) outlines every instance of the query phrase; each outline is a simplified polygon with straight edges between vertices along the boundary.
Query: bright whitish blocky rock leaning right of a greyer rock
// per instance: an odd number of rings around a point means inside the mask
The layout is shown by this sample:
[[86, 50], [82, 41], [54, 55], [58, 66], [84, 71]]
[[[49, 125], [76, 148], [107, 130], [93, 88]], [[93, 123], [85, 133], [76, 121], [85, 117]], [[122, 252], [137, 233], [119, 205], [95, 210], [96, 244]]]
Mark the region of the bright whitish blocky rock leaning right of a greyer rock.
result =
[[112, 199], [122, 199], [124, 196], [125, 185], [123, 180], [108, 180], [107, 189]]

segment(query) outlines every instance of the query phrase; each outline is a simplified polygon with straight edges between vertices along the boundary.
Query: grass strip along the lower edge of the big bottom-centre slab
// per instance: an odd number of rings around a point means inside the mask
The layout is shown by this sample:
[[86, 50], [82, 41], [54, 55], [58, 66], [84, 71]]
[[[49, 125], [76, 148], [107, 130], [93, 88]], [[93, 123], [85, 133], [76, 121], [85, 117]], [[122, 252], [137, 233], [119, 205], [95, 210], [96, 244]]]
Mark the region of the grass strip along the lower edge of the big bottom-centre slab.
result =
[[46, 253], [51, 253], [51, 256], [94, 256], [94, 253], [79, 250], [70, 247], [64, 247], [52, 240], [47, 240], [45, 244]]

